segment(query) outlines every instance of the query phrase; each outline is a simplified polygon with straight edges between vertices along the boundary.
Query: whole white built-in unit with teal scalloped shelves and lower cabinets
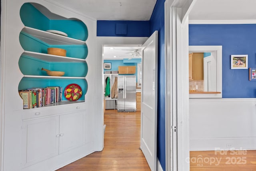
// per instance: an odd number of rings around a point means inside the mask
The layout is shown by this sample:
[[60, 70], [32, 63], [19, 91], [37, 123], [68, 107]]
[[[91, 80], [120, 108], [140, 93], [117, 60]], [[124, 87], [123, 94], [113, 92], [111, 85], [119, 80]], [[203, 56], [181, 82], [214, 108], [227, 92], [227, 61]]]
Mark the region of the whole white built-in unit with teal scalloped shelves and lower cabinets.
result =
[[[57, 170], [101, 150], [102, 137], [98, 135], [101, 134], [103, 126], [97, 122], [98, 116], [95, 113], [98, 113], [98, 109], [95, 107], [94, 94], [96, 88], [92, 85], [95, 84], [93, 78], [96, 76], [92, 72], [96, 70], [95, 59], [92, 58], [96, 46], [96, 21], [45, 0], [36, 0], [36, 3], [8, 0], [8, 6], [5, 7], [4, 16], [8, 16], [8, 20], [4, 21], [5, 46], [1, 48], [1, 58], [4, 61], [1, 68], [4, 78], [1, 82], [1, 87], [4, 88], [1, 106], [5, 109], [2, 112], [5, 116], [2, 120], [5, 132], [2, 136], [2, 169]], [[52, 14], [56, 18], [52, 19], [43, 13], [46, 11], [48, 14], [54, 12]], [[65, 20], [64, 17], [68, 19]], [[68, 37], [46, 30], [58, 30], [68, 34]], [[48, 48], [65, 49], [67, 57], [47, 54]], [[90, 73], [89, 62], [92, 65]], [[48, 76], [42, 68], [62, 71], [65, 74], [61, 77]], [[76, 85], [70, 87], [72, 84], [78, 84], [82, 89], [81, 97], [71, 96], [80, 97], [78, 100], [76, 97], [67, 96], [69, 92], [81, 94]], [[52, 96], [47, 96], [48, 99], [54, 99], [52, 97], [56, 95], [56, 100], [50, 101], [51, 104], [44, 103], [45, 105], [40, 101], [38, 106], [27, 107], [30, 109], [24, 107], [24, 103], [28, 101], [34, 103], [35, 97], [38, 97], [36, 93], [49, 92], [49, 87], [62, 87], [62, 93], [58, 91], [59, 94], [55, 94], [51, 90]], [[68, 89], [66, 93], [65, 87]], [[72, 91], [69, 91], [71, 88]], [[28, 89], [44, 92], [33, 91], [32, 96], [32, 91]], [[27, 97], [20, 94], [22, 90], [29, 93]], [[42, 97], [44, 102], [49, 102], [45, 96]], [[62, 101], [56, 102], [59, 97], [62, 97]], [[24, 102], [22, 98], [28, 101]]]

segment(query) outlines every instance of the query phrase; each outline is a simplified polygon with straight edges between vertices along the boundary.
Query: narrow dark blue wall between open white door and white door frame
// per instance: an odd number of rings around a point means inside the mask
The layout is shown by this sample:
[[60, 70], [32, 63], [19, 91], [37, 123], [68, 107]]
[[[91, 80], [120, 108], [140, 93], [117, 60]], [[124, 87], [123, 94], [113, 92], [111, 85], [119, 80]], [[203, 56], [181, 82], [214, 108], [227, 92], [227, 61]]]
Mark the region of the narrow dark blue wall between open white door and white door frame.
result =
[[150, 18], [150, 35], [158, 30], [158, 117], [157, 157], [163, 170], [165, 162], [165, 63], [164, 63], [164, 2], [157, 0]]

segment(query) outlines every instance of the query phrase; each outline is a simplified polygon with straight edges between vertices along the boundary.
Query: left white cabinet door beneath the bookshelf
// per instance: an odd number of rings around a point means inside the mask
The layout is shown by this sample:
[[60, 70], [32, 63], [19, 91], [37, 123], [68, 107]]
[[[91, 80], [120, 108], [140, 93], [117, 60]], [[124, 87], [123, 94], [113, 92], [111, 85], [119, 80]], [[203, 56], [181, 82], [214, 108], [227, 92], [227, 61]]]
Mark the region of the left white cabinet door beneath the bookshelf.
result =
[[59, 116], [22, 122], [22, 164], [58, 155]]

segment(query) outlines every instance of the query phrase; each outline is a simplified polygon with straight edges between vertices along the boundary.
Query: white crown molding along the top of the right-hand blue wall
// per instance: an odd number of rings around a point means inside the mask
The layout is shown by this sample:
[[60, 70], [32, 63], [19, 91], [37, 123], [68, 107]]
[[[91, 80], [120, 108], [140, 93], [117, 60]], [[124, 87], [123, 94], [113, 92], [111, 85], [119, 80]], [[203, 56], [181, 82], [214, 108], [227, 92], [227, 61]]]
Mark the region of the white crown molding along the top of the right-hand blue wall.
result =
[[256, 24], [256, 20], [189, 20], [189, 24]]

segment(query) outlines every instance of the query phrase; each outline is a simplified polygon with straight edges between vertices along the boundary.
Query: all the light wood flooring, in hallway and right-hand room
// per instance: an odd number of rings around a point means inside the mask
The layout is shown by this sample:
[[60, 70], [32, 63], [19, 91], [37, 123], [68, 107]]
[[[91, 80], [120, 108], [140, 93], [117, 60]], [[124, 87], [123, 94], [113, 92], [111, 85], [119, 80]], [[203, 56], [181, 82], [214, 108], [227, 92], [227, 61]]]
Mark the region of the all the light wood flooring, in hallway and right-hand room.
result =
[[[104, 123], [103, 151], [58, 171], [150, 171], [139, 149], [140, 111], [106, 110]], [[256, 171], [256, 151], [190, 151], [190, 171]]]

